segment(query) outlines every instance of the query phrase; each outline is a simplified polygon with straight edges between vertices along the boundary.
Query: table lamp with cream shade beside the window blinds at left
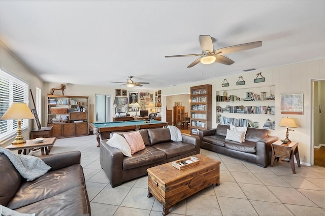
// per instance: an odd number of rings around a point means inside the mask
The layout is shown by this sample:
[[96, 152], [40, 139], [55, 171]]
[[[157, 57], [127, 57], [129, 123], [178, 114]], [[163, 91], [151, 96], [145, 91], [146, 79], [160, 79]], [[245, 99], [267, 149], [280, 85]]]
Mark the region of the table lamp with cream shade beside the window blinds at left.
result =
[[26, 103], [12, 103], [7, 112], [1, 118], [2, 120], [10, 120], [17, 119], [17, 135], [15, 137], [15, 141], [12, 144], [21, 144], [25, 143], [24, 137], [21, 136], [21, 120], [22, 119], [34, 119], [34, 115], [32, 115]]

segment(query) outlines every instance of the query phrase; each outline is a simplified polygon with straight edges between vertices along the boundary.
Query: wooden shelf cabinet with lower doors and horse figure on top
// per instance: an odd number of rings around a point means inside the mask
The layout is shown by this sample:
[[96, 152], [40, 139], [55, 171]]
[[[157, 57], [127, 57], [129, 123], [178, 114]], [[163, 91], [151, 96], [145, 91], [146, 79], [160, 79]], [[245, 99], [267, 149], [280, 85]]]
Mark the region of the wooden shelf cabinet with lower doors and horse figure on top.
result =
[[88, 134], [88, 97], [47, 95], [47, 125], [54, 137]]

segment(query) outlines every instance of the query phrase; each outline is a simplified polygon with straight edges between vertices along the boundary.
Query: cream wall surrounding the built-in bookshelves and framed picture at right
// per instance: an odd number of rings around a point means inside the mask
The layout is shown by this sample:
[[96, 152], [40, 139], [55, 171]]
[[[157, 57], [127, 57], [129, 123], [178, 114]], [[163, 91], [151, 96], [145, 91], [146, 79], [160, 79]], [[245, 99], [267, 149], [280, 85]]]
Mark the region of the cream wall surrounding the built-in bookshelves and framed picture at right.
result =
[[[265, 82], [254, 83], [256, 74], [262, 72]], [[198, 70], [198, 73], [200, 71]], [[245, 80], [244, 86], [236, 86], [238, 78], [242, 76]], [[211, 71], [212, 77], [212, 71]], [[212, 85], [212, 127], [216, 127], [216, 91], [250, 88], [258, 86], [275, 85], [275, 122], [279, 123], [282, 117], [293, 117], [298, 125], [294, 132], [290, 132], [291, 140], [299, 142], [299, 155], [302, 164], [311, 165], [311, 80], [325, 78], [325, 58], [305, 61], [290, 65], [283, 65], [265, 70], [255, 70], [249, 73], [242, 73], [228, 77], [215, 78], [195, 83], [188, 83], [179, 86], [161, 89], [162, 96], [188, 93], [191, 86], [211, 84]], [[221, 87], [224, 79], [230, 83], [229, 87]], [[303, 115], [281, 115], [280, 95], [281, 94], [303, 94], [304, 113]], [[166, 101], [163, 100], [163, 107]], [[283, 137], [285, 128], [276, 125], [275, 130], [270, 131], [271, 135]]]

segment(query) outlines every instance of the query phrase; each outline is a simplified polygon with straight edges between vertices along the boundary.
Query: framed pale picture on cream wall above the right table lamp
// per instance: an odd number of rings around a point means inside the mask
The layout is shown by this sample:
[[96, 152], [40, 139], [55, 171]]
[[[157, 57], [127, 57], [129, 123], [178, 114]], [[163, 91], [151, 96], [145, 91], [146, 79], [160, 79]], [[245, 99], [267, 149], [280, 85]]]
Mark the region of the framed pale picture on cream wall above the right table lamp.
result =
[[280, 95], [281, 114], [303, 115], [303, 94]]

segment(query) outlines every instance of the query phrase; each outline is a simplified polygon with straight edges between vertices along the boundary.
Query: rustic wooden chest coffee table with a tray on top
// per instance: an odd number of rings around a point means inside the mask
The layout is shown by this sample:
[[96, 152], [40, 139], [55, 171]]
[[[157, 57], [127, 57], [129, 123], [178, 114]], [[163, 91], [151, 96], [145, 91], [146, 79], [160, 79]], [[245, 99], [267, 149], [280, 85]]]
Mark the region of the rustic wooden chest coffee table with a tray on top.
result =
[[181, 170], [172, 166], [172, 162], [147, 169], [148, 197], [153, 195], [163, 205], [163, 215], [177, 202], [210, 185], [220, 184], [220, 161], [204, 155], [194, 156], [200, 162]]

